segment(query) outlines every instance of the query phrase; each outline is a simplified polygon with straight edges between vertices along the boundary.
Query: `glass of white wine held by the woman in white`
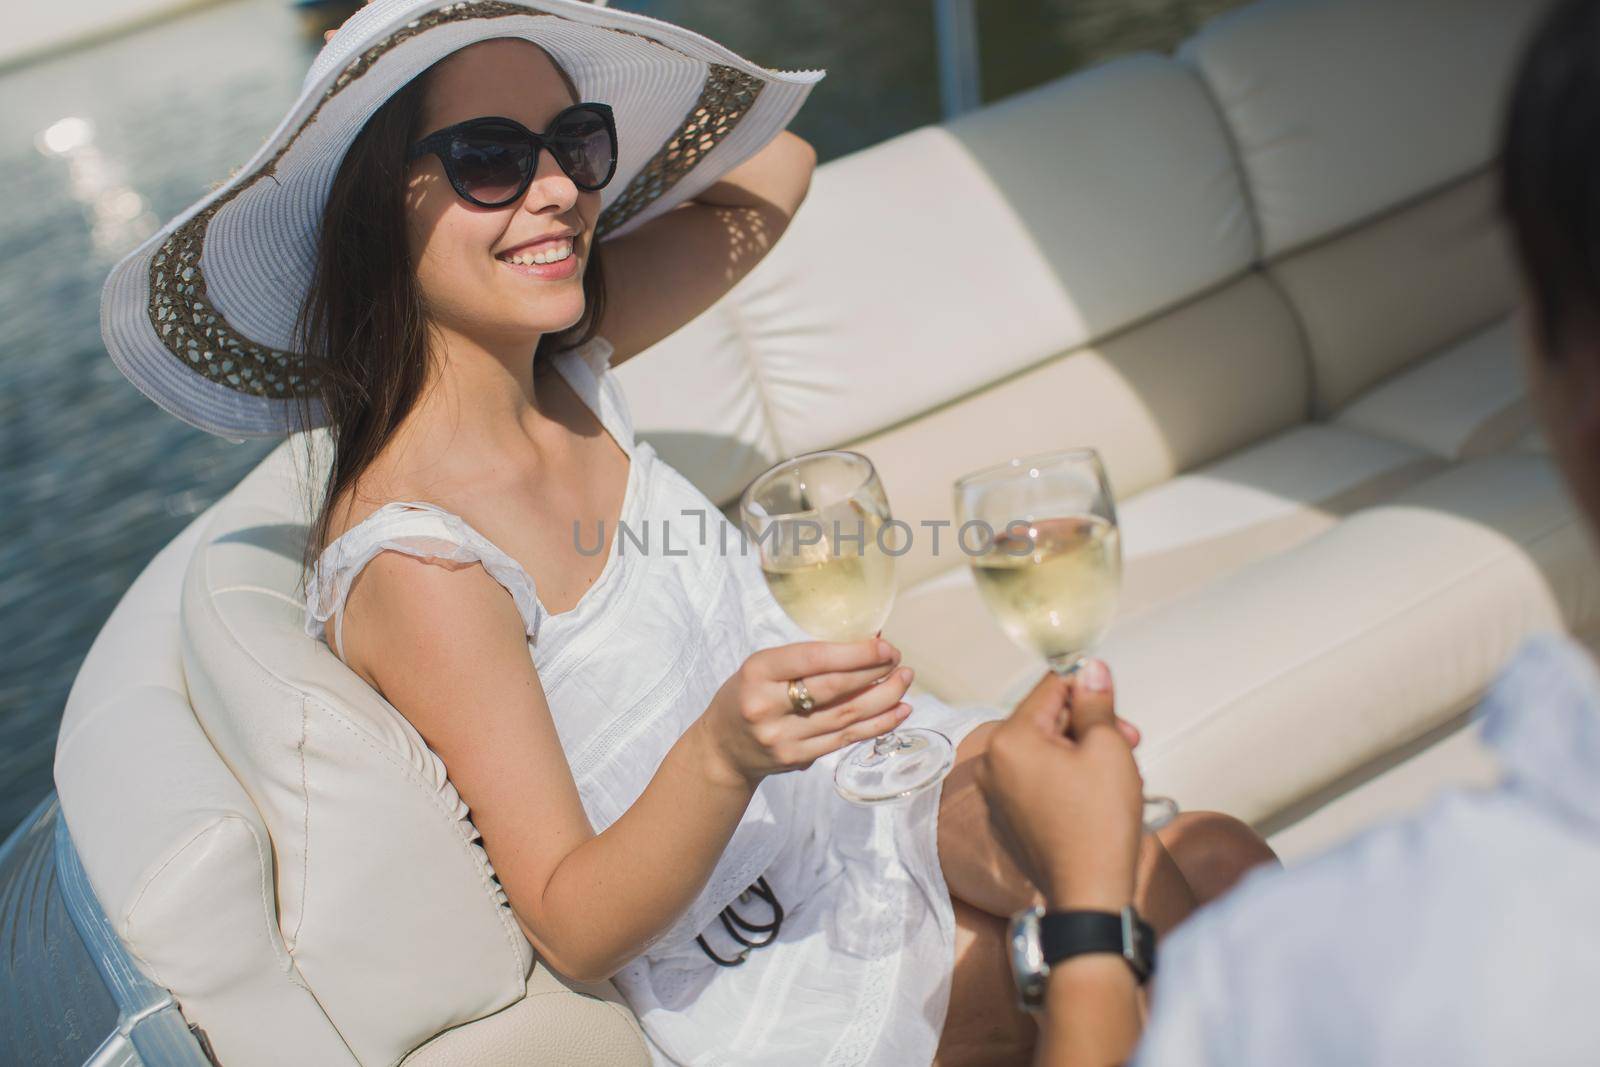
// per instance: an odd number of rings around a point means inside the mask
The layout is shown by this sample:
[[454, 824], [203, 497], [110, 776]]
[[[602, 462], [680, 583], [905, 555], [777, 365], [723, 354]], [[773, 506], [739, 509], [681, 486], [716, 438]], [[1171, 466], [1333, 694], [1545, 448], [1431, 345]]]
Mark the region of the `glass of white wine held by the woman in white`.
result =
[[[882, 541], [890, 501], [872, 461], [840, 450], [786, 459], [744, 490], [739, 518], [766, 587], [802, 630], [824, 641], [877, 637], [894, 606], [894, 557]], [[861, 805], [901, 800], [954, 763], [949, 737], [902, 726], [851, 747], [834, 787]]]

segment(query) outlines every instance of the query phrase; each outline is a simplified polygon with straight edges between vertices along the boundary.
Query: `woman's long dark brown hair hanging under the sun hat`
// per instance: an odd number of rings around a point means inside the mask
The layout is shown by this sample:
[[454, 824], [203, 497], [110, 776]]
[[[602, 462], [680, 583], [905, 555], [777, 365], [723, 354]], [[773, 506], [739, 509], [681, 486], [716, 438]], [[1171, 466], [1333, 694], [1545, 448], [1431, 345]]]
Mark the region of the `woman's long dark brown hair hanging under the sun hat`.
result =
[[[552, 61], [554, 62], [554, 61]], [[429, 376], [429, 318], [406, 243], [406, 149], [419, 130], [432, 67], [373, 112], [333, 178], [317, 237], [310, 288], [294, 326], [296, 347], [320, 379], [331, 462], [326, 482], [306, 477], [312, 515], [301, 560], [309, 574], [328, 542], [333, 502], [355, 485], [416, 406]], [[560, 66], [557, 70], [562, 72]], [[578, 99], [571, 78], [562, 72]], [[584, 315], [539, 338], [533, 362], [594, 338], [605, 307], [600, 248], [589, 246]], [[302, 426], [310, 398], [301, 397]], [[307, 438], [307, 475], [317, 470]], [[318, 485], [322, 491], [318, 493]]]

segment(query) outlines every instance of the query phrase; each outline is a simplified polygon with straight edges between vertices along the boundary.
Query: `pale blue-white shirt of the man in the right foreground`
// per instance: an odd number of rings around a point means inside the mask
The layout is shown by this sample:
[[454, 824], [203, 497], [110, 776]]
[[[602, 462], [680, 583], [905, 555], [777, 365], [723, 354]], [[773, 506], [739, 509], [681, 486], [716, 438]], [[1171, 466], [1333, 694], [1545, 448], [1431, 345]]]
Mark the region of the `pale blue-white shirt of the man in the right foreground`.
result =
[[1600, 672], [1542, 635], [1480, 712], [1499, 785], [1174, 931], [1138, 1067], [1600, 1064]]

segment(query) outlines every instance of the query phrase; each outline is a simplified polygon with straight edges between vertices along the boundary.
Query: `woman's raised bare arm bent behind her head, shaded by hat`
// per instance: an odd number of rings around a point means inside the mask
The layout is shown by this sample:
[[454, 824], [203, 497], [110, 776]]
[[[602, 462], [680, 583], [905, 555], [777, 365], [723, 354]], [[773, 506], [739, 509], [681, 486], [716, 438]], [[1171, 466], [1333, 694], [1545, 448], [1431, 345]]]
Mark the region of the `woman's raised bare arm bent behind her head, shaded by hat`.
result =
[[779, 133], [693, 200], [605, 243], [600, 333], [621, 363], [690, 322], [750, 272], [811, 186], [816, 150]]

